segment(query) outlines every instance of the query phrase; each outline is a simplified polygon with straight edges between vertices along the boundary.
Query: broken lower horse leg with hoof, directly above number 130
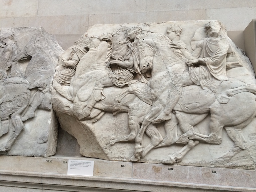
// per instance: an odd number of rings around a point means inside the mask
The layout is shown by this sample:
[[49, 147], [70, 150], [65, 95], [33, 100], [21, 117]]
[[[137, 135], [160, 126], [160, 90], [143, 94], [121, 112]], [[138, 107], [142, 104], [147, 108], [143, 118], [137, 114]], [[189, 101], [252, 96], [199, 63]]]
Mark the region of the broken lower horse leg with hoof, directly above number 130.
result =
[[161, 162], [168, 165], [178, 163], [197, 144], [199, 144], [199, 141], [189, 140], [188, 144], [186, 144], [179, 152], [169, 154], [169, 158], [164, 159]]

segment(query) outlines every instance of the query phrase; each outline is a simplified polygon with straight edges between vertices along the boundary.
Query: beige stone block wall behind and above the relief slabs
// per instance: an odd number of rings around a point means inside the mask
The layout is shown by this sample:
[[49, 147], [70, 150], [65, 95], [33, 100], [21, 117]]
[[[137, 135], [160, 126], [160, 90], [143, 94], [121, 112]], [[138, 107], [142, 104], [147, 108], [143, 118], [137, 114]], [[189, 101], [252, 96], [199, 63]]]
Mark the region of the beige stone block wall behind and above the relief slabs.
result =
[[[62, 48], [94, 24], [220, 20], [244, 48], [243, 30], [256, 17], [255, 0], [1, 0], [0, 27], [43, 27]], [[232, 32], [230, 32], [232, 31]]]

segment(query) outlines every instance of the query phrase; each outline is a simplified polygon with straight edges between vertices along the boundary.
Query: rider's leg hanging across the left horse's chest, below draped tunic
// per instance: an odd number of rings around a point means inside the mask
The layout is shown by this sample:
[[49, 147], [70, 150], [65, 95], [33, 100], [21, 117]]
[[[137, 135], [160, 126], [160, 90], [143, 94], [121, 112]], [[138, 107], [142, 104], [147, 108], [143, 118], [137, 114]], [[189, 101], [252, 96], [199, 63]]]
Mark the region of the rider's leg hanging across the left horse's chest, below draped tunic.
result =
[[90, 99], [88, 100], [88, 104], [87, 104], [86, 108], [84, 109], [85, 117], [90, 115], [90, 111], [94, 107], [96, 102], [103, 99], [102, 98], [102, 97], [104, 97], [104, 95], [102, 93], [103, 88], [104, 87], [111, 87], [113, 85], [114, 84], [112, 83], [109, 76], [105, 76], [102, 79], [99, 79], [98, 81], [96, 81], [96, 85], [95, 85], [95, 87], [92, 91]]

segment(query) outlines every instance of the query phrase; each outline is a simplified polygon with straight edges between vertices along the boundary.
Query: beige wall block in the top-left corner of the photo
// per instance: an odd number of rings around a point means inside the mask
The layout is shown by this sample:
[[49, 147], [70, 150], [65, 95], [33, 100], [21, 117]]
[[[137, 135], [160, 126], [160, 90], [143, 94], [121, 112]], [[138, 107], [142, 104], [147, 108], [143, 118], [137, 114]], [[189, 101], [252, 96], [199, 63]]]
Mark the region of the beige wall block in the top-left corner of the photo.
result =
[[0, 18], [37, 15], [38, 0], [0, 0]]

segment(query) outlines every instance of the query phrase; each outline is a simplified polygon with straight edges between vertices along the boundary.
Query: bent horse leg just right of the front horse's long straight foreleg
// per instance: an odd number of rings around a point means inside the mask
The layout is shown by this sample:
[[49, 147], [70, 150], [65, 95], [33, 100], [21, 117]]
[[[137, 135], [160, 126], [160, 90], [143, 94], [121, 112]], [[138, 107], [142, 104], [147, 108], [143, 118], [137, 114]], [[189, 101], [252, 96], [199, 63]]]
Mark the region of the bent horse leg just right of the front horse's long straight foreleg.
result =
[[[150, 124], [151, 125], [151, 124]], [[151, 149], [157, 146], [160, 142], [163, 141], [162, 135], [157, 130], [156, 126], [148, 126], [146, 129], [146, 134], [150, 137], [151, 143], [148, 144], [142, 151], [141, 157], [144, 157]]]

